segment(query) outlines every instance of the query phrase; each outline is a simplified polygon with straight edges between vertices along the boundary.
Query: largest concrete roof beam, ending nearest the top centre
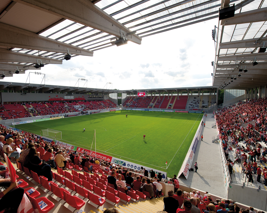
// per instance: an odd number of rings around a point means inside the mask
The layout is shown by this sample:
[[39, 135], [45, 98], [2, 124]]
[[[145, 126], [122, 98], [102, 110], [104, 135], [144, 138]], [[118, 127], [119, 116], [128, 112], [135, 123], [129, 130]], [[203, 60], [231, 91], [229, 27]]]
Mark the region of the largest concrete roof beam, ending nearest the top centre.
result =
[[125, 33], [128, 40], [141, 44], [141, 38], [136, 34], [127, 33], [131, 31], [123, 24], [116, 21], [108, 13], [99, 9], [87, 0], [17, 0], [17, 2], [40, 9], [42, 11], [60, 16], [64, 19], [92, 27], [105, 33], [121, 37], [121, 31]]

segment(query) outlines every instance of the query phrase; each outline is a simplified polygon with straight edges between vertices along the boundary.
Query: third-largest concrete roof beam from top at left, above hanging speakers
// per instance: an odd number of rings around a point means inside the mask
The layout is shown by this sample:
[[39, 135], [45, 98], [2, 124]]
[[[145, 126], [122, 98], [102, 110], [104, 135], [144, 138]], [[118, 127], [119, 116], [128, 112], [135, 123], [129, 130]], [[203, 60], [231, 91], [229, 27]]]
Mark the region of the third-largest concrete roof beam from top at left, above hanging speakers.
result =
[[[37, 55], [19, 53], [19, 52], [9, 51], [9, 50], [0, 48], [0, 62], [36, 63], [37, 62], [36, 59], [42, 60], [43, 64], [62, 64], [61, 60], [41, 57]], [[27, 66], [27, 65], [24, 65], [24, 66]], [[27, 69], [28, 68], [29, 67], [27, 67]]]

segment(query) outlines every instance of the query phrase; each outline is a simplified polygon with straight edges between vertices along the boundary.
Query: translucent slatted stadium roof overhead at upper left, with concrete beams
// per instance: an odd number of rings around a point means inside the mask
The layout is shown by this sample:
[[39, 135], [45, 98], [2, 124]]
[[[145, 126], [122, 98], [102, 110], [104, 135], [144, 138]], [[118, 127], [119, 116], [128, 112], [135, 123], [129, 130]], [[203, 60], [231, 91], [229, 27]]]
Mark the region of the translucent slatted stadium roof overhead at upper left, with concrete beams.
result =
[[93, 56], [120, 37], [141, 44], [142, 37], [217, 18], [220, 6], [219, 0], [1, 0], [0, 72], [12, 76], [40, 60], [61, 64], [68, 52]]

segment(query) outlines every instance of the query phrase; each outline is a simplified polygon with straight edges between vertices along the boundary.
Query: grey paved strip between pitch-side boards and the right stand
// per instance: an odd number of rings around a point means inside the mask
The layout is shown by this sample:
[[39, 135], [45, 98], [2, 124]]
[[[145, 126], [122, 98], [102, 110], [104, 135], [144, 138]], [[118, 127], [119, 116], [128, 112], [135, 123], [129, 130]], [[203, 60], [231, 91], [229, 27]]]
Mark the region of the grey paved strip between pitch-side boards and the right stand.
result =
[[218, 143], [212, 143], [212, 136], [217, 134], [212, 113], [205, 118], [206, 127], [203, 127], [203, 141], [199, 141], [191, 167], [198, 163], [197, 173], [191, 171], [188, 180], [183, 175], [178, 179], [180, 183], [187, 184], [192, 188], [207, 191], [210, 194], [226, 198], [225, 181], [221, 165], [221, 156]]

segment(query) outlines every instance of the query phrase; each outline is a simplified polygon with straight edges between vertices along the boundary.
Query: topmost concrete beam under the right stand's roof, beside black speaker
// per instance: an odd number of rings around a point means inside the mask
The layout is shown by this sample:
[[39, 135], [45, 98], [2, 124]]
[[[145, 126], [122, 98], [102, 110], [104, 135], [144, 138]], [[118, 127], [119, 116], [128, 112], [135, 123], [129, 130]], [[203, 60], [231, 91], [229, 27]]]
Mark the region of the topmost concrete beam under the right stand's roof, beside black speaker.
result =
[[256, 9], [247, 12], [236, 13], [234, 17], [226, 19], [224, 25], [244, 24], [267, 20], [267, 9]]

